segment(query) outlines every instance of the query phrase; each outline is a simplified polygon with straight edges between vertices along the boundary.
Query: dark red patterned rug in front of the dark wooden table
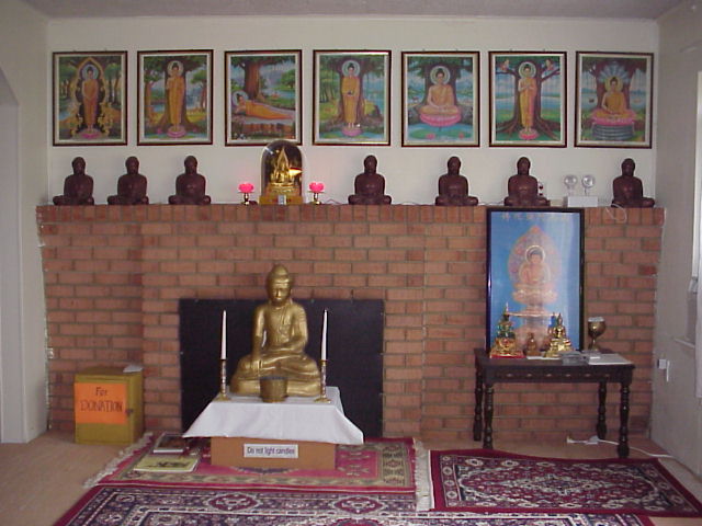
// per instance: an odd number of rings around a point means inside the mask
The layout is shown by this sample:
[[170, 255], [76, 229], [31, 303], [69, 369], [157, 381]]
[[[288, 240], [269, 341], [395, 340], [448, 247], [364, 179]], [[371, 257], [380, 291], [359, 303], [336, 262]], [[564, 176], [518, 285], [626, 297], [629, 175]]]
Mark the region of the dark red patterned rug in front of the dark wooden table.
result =
[[567, 460], [431, 451], [434, 510], [700, 517], [702, 504], [656, 459]]

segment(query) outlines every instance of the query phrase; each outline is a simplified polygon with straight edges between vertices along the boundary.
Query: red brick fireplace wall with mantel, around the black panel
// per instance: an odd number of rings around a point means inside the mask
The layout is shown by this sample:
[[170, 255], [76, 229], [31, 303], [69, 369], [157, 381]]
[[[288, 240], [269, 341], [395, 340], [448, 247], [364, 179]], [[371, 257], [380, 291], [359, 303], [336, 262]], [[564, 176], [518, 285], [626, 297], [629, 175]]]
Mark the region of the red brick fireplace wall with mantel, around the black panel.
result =
[[[145, 365], [150, 430], [180, 426], [178, 299], [262, 298], [274, 262], [296, 298], [385, 301], [384, 433], [471, 441], [473, 348], [484, 345], [485, 208], [149, 205], [37, 208], [50, 425], [71, 430], [72, 380]], [[663, 209], [586, 210], [586, 316], [636, 364], [631, 431], [650, 413]], [[496, 439], [590, 436], [591, 385], [499, 385]], [[616, 430], [616, 390], [608, 405]]]

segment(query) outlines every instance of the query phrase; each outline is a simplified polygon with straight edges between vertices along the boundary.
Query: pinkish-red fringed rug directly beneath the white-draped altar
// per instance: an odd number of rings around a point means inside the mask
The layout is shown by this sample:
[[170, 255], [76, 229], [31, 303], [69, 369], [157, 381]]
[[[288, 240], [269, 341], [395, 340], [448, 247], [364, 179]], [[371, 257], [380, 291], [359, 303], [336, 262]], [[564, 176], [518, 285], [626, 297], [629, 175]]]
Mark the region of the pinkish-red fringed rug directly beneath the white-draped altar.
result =
[[[86, 485], [138, 484], [204, 488], [315, 488], [318, 491], [415, 492], [415, 444], [411, 439], [369, 441], [359, 446], [337, 446], [333, 470], [253, 469], [213, 466], [207, 442], [195, 448], [196, 467], [190, 472], [140, 471], [139, 462], [170, 455], [151, 455], [154, 439], [147, 436]], [[421, 446], [418, 444], [418, 448]], [[143, 465], [143, 462], [141, 462]], [[136, 468], [136, 469], [135, 469]]]

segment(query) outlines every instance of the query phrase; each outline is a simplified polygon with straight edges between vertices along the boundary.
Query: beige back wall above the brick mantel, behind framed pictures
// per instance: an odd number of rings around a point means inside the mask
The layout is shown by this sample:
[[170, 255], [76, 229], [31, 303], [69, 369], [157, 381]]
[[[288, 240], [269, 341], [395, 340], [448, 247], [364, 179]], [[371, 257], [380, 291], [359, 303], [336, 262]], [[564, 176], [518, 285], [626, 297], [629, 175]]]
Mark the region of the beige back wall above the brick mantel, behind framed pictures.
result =
[[[201, 173], [207, 176], [207, 191], [215, 203], [239, 201], [238, 182], [260, 178], [261, 147], [224, 147], [223, 54], [241, 49], [303, 49], [303, 156], [305, 178], [327, 185], [326, 199], [346, 203], [353, 176], [362, 171], [363, 158], [374, 153], [378, 171], [387, 180], [394, 203], [433, 203], [437, 179], [446, 160], [458, 155], [463, 172], [471, 180], [471, 192], [485, 203], [500, 201], [506, 181], [514, 173], [520, 156], [532, 160], [532, 173], [546, 183], [552, 198], [565, 193], [567, 173], [595, 174], [598, 193], [611, 199], [611, 180], [619, 175], [623, 158], [633, 157], [637, 175], [648, 195], [654, 192], [655, 150], [601, 148], [489, 148], [488, 135], [488, 50], [568, 52], [567, 121], [568, 144], [573, 144], [575, 102], [575, 52], [656, 52], [658, 30], [653, 21], [517, 20], [517, 19], [342, 19], [342, 18], [202, 18], [52, 21], [48, 47], [52, 52], [126, 49], [128, 59], [129, 126], [126, 147], [49, 149], [50, 194], [60, 193], [76, 155], [86, 157], [88, 173], [95, 179], [95, 201], [104, 203], [115, 193], [116, 180], [124, 173], [124, 160], [136, 155], [149, 178], [152, 203], [163, 203], [173, 193], [174, 178], [182, 172], [183, 159], [195, 155]], [[213, 48], [214, 135], [213, 146], [136, 147], [136, 52], [154, 49]], [[312, 92], [314, 49], [389, 49], [392, 62], [392, 147], [312, 146]], [[480, 148], [401, 148], [400, 145], [400, 53], [403, 50], [461, 49], [480, 52]], [[47, 66], [48, 67], [48, 66]]]

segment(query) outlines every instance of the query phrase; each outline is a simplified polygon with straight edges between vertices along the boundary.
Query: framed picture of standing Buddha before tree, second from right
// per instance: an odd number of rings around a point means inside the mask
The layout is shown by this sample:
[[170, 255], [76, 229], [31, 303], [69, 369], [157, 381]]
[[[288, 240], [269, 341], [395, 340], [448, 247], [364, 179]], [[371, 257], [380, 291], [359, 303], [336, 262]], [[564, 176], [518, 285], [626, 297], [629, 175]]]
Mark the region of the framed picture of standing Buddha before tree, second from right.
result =
[[566, 53], [489, 52], [490, 146], [566, 147]]

